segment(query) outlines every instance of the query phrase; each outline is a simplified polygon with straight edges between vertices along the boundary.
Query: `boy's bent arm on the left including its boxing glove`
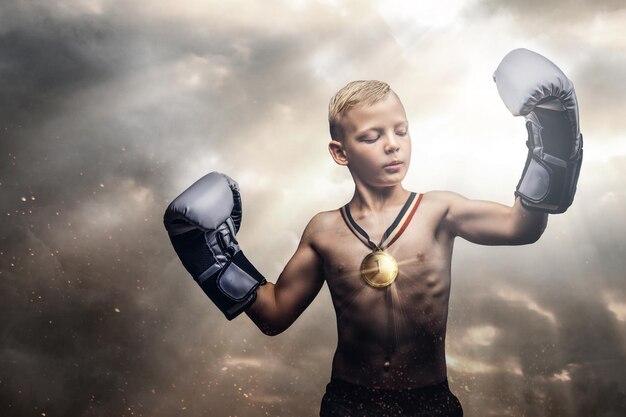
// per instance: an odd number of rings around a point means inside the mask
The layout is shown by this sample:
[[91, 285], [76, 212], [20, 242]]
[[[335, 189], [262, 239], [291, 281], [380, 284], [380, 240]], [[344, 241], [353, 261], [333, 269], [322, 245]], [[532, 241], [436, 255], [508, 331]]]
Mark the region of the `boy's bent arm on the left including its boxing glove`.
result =
[[241, 223], [239, 186], [212, 172], [167, 207], [163, 221], [174, 250], [211, 301], [232, 320], [244, 311], [266, 334], [285, 330], [313, 301], [324, 278], [313, 247], [313, 217], [276, 285], [245, 257], [235, 238]]

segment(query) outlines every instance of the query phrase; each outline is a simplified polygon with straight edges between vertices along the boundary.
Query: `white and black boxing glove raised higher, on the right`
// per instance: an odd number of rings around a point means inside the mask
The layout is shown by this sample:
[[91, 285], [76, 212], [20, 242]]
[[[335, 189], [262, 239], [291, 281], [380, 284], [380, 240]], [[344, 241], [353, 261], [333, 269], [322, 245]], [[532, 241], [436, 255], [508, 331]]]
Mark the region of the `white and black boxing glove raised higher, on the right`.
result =
[[574, 85], [550, 60], [522, 48], [502, 59], [493, 79], [509, 111], [526, 118], [528, 158], [515, 194], [527, 209], [565, 212], [583, 159]]

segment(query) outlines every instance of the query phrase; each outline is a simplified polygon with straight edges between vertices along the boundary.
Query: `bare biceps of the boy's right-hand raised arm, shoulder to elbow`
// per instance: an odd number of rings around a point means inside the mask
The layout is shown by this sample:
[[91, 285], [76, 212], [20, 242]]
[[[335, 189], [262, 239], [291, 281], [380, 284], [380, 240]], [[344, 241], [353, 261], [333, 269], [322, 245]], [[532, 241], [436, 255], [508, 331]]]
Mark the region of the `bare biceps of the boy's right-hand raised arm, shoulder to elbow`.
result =
[[503, 204], [459, 198], [448, 213], [453, 232], [482, 245], [511, 244], [515, 237], [511, 207]]

